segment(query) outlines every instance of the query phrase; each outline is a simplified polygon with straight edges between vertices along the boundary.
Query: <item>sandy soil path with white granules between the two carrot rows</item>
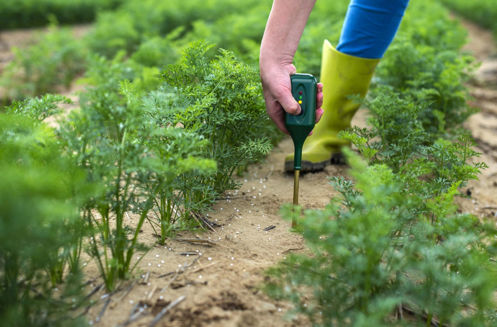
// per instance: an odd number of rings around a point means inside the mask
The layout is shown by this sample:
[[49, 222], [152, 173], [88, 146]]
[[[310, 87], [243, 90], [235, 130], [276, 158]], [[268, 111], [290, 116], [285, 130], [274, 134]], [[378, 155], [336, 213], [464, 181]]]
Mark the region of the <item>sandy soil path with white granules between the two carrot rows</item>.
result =
[[[168, 303], [185, 296], [185, 300], [157, 326], [307, 326], [303, 317], [285, 321], [284, 315], [291, 308], [289, 304], [274, 302], [259, 290], [264, 269], [285, 260], [290, 251], [302, 251], [304, 245], [302, 236], [289, 231], [290, 223], [278, 214], [283, 203], [292, 201], [293, 174], [283, 171], [283, 158], [292, 147], [291, 139], [281, 142], [267, 157], [265, 165], [249, 168], [241, 178], [244, 182], [241, 190], [233, 191], [231, 195], [227, 193], [230, 199], [220, 200], [213, 207], [215, 213], [209, 217], [217, 219], [223, 227], [217, 227], [216, 232], [177, 235], [179, 238], [211, 239], [215, 246], [173, 241], [166, 247], [154, 247], [139, 264], [142, 275], [149, 273], [148, 283], [142, 283], [140, 279], [122, 299], [124, 292], [115, 294], [110, 300], [115, 307], [109, 305], [98, 325], [110, 327], [125, 322], [139, 304], [144, 308], [144, 315], [129, 326], [148, 326]], [[344, 167], [331, 166], [323, 172], [302, 176], [300, 203], [304, 208], [323, 208], [333, 196], [326, 176], [343, 174]], [[276, 227], [263, 230], [270, 225]], [[155, 238], [150, 225], [142, 229], [141, 241], [153, 243]], [[194, 254], [181, 255], [185, 252]], [[179, 266], [190, 264], [199, 255], [200, 258], [184, 273], [159, 277], [180, 271]], [[91, 262], [85, 274], [88, 278], [98, 276]], [[122, 289], [126, 290], [131, 283], [126, 283]], [[97, 285], [93, 284], [93, 287], [87, 286], [88, 292]], [[104, 291], [101, 291], [94, 298], [98, 300], [103, 295]], [[114, 303], [117, 299], [119, 301]], [[94, 323], [105, 301], [101, 300], [89, 311], [88, 318]]]

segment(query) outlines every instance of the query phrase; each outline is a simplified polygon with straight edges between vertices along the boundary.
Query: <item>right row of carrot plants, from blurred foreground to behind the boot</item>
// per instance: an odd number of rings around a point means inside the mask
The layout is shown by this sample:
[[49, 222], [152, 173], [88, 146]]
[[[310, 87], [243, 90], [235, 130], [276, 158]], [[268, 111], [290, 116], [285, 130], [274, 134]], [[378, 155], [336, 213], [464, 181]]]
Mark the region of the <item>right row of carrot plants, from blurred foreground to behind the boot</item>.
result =
[[[339, 134], [360, 153], [344, 149], [352, 180], [329, 177], [337, 195], [299, 220], [312, 255], [267, 271], [265, 289], [293, 302], [290, 317], [304, 314], [313, 326], [496, 326], [495, 219], [456, 206], [488, 168], [461, 127], [475, 112], [464, 83], [477, 65], [459, 54], [458, 28], [435, 25], [401, 29], [367, 99], [353, 97], [369, 116], [367, 127]], [[291, 218], [292, 207], [281, 215]]]

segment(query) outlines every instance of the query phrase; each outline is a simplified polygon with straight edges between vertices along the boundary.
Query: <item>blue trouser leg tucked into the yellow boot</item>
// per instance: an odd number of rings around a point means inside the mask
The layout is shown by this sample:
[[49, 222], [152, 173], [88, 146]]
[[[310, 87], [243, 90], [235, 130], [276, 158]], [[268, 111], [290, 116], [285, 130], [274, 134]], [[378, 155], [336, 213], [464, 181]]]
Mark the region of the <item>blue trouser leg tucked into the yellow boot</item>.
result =
[[383, 57], [409, 0], [351, 0], [336, 50], [360, 58]]

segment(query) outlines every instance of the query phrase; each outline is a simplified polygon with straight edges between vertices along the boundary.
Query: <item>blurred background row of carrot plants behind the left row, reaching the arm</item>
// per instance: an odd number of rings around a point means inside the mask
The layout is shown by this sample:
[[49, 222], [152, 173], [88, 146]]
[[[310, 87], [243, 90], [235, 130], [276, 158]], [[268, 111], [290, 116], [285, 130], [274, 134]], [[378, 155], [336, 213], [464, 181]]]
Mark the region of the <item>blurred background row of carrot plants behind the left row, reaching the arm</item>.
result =
[[[40, 34], [39, 42], [33, 46], [22, 51], [15, 49], [14, 59], [0, 78], [0, 86], [5, 89], [3, 102], [42, 95], [58, 85], [68, 87], [68, 81], [85, 70], [95, 69], [95, 56], [121, 63], [130, 80], [140, 78], [142, 74], [157, 80], [155, 76], [162, 67], [176, 63], [181, 49], [190, 40], [207, 37], [211, 42], [217, 42], [227, 31], [227, 26], [224, 26], [224, 31], [216, 32], [217, 37], [204, 30], [193, 35], [190, 31], [196, 22], [207, 24], [234, 15], [240, 23], [244, 21], [246, 10], [251, 10], [250, 17], [259, 21], [260, 27], [254, 33], [260, 42], [265, 21], [257, 12], [269, 12], [269, 1], [251, 0], [241, 4], [234, 0], [128, 0], [117, 10], [98, 15], [93, 28], [81, 39], [74, 37], [69, 27], [52, 25], [51, 31]], [[243, 34], [251, 30], [243, 28], [239, 31]], [[232, 40], [238, 41], [238, 38]], [[217, 46], [238, 50], [229, 43], [221, 42]], [[244, 52], [237, 53], [243, 59]], [[211, 49], [207, 55], [213, 58], [216, 51]], [[156, 83], [144, 91], [154, 90], [157, 86]]]

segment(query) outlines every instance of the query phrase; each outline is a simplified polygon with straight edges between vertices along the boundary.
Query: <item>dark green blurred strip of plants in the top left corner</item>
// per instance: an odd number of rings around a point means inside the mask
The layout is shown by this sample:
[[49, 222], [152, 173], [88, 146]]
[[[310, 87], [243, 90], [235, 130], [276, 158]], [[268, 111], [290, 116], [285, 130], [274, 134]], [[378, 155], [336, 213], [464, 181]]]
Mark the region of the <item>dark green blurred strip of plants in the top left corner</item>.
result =
[[0, 30], [93, 21], [99, 11], [117, 7], [123, 0], [2, 0]]

